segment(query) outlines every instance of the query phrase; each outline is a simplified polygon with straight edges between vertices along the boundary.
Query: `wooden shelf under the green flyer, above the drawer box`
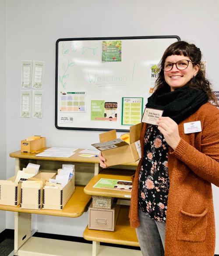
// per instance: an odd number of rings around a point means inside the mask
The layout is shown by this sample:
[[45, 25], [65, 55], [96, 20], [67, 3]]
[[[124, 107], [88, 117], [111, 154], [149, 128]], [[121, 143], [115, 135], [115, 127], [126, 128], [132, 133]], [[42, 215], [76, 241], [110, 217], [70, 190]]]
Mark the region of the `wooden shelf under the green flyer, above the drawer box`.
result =
[[109, 196], [109, 197], [130, 199], [131, 191], [120, 191], [120, 190], [105, 189], [105, 188], [95, 188], [93, 186], [102, 178], [131, 181], [131, 176], [133, 174], [134, 174], [134, 171], [104, 169], [101, 171], [100, 174], [94, 176], [90, 180], [90, 182], [85, 186], [84, 192], [85, 192], [85, 194], [88, 194], [88, 195]]

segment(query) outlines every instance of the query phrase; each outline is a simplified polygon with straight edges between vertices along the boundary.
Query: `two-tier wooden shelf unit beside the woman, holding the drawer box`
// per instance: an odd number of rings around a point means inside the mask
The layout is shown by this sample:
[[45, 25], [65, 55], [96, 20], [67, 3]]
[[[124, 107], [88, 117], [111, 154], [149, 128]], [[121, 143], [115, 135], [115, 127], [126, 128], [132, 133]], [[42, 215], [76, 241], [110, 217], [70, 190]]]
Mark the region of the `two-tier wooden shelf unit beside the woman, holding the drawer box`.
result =
[[[131, 192], [129, 191], [119, 191], [113, 189], [105, 188], [95, 188], [93, 187], [101, 178], [104, 179], [117, 179], [117, 180], [127, 180], [131, 181], [131, 176], [134, 174], [132, 170], [117, 170], [117, 169], [103, 169], [98, 175], [94, 176], [90, 182], [85, 186], [84, 192], [88, 195], [96, 196], [108, 196], [121, 199], [130, 199]], [[120, 201], [120, 202], [119, 202]], [[129, 200], [123, 200], [130, 202]], [[117, 203], [121, 203], [118, 200]], [[124, 204], [124, 202], [122, 202]], [[125, 203], [129, 204], [129, 203]], [[99, 243], [113, 243], [119, 245], [130, 245], [139, 246], [138, 238], [134, 228], [130, 227], [129, 218], [129, 206], [120, 206], [120, 212], [117, 219], [117, 224], [114, 231], [100, 231], [88, 229], [86, 227], [83, 237], [86, 240], [93, 242], [92, 256], [96, 256], [98, 253]]]

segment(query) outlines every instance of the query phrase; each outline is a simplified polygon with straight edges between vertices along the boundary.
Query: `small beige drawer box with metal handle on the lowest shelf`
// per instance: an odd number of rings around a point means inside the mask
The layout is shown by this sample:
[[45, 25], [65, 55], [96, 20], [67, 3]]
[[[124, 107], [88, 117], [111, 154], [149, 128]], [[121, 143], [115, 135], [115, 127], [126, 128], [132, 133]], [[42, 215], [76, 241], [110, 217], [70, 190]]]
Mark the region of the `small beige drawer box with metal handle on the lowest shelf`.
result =
[[119, 215], [120, 205], [114, 204], [112, 209], [88, 209], [88, 228], [97, 230], [114, 231]]

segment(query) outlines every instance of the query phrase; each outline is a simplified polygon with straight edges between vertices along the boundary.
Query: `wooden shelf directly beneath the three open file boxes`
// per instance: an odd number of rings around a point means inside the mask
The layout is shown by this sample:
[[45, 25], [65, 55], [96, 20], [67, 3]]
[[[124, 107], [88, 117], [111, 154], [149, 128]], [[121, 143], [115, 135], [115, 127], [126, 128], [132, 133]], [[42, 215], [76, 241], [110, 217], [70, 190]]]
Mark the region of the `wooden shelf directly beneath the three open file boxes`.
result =
[[0, 205], [0, 210], [76, 218], [81, 216], [84, 213], [91, 199], [91, 196], [86, 195], [83, 190], [84, 190], [84, 186], [75, 186], [74, 194], [71, 196], [71, 198], [69, 199], [69, 201], [67, 202], [63, 210], [21, 209], [20, 206], [4, 206], [4, 205]]

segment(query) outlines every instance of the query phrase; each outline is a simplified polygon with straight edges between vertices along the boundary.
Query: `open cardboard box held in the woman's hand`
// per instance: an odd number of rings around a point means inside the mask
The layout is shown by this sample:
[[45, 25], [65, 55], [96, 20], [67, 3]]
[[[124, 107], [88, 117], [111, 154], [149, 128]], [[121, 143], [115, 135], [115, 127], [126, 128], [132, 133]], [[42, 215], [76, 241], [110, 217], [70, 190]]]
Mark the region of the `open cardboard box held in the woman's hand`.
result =
[[107, 166], [135, 162], [141, 158], [140, 134], [142, 123], [130, 127], [130, 144], [117, 139], [116, 130], [100, 133], [101, 143], [92, 144], [106, 159]]

